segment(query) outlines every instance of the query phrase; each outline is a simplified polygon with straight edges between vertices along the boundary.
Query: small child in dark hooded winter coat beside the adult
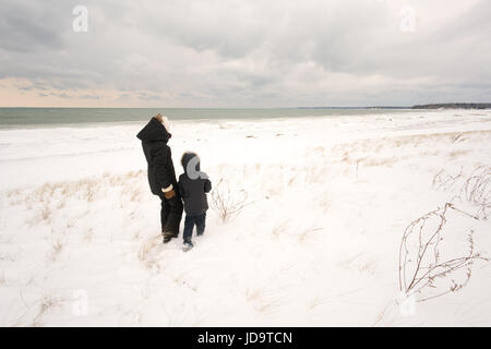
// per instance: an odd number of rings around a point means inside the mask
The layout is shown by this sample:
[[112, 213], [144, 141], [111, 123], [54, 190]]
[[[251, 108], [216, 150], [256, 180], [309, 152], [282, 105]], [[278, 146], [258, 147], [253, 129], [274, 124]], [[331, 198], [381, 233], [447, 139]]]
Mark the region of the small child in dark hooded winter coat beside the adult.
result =
[[184, 245], [193, 246], [191, 237], [194, 225], [196, 234], [202, 236], [205, 229], [208, 202], [206, 193], [212, 190], [212, 182], [205, 172], [200, 170], [200, 158], [194, 153], [184, 153], [181, 158], [184, 173], [179, 176], [179, 193], [184, 202]]

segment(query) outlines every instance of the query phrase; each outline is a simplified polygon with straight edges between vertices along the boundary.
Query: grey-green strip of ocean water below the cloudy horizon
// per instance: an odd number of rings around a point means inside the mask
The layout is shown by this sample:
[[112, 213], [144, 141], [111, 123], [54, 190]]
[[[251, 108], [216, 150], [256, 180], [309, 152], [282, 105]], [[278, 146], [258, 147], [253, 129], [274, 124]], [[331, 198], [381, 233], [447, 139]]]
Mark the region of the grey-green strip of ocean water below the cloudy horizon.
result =
[[160, 112], [170, 120], [268, 119], [400, 113], [399, 108], [0, 108], [0, 129], [143, 121]]

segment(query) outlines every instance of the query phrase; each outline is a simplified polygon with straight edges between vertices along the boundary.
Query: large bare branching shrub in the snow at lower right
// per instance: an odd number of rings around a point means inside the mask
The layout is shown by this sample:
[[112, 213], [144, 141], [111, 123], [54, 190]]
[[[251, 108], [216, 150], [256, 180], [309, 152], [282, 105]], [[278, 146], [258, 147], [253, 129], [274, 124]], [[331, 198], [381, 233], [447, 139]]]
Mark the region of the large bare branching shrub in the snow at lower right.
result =
[[[467, 234], [467, 253], [442, 257], [442, 253], [448, 252], [442, 250], [442, 244], [447, 237], [444, 228], [450, 210], [476, 218], [446, 203], [443, 208], [414, 220], [404, 231], [399, 248], [399, 289], [408, 297], [424, 293], [418, 302], [460, 290], [471, 277], [472, 264], [489, 262], [475, 252], [472, 230]], [[455, 279], [457, 276], [459, 281]]]

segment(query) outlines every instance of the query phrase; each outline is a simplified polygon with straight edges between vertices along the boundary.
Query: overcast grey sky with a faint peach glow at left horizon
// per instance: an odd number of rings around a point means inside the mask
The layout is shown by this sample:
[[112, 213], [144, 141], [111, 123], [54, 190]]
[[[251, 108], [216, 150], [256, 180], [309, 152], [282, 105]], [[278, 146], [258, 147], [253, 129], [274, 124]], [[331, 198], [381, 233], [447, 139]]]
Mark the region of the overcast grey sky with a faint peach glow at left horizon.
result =
[[491, 101], [490, 20], [490, 0], [0, 0], [0, 106]]

